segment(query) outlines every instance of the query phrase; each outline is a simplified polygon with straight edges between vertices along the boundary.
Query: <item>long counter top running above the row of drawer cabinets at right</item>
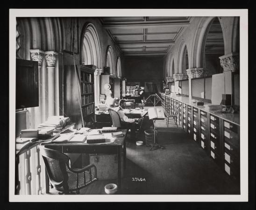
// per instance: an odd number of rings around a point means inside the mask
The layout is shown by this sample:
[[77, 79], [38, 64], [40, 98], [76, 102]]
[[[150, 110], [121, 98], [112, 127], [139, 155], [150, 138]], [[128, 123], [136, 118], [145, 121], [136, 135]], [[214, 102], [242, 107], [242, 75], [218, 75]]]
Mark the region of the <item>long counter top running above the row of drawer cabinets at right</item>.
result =
[[[164, 93], [161, 93], [163, 95], [165, 95]], [[176, 96], [176, 97], [171, 97], [170, 94], [168, 95], [165, 95], [166, 97], [169, 97], [169, 98], [173, 98], [175, 100], [178, 100], [182, 103], [185, 103], [187, 105], [191, 105], [193, 107], [196, 107], [204, 112], [209, 112], [221, 119], [224, 119], [224, 120], [227, 120], [231, 123], [234, 123], [236, 124], [237, 126], [240, 126], [240, 114], [239, 113], [215, 113], [215, 112], [212, 112], [212, 111], [209, 111], [209, 110], [206, 110], [205, 106], [200, 106], [200, 105], [196, 105], [196, 103], [193, 103], [188, 97], [185, 97], [185, 96]], [[197, 100], [196, 100], [197, 101]], [[205, 105], [211, 105], [210, 103], [206, 103], [204, 102]]]

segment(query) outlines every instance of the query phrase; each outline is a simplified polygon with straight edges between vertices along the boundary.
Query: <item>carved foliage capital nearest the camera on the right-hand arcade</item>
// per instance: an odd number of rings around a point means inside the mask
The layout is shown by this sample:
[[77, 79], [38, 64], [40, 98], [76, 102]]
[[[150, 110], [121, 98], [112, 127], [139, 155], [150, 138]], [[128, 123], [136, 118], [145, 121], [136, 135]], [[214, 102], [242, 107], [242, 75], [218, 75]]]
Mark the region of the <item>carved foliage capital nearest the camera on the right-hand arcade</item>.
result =
[[220, 65], [224, 71], [239, 71], [240, 70], [240, 56], [239, 53], [228, 53], [220, 56]]

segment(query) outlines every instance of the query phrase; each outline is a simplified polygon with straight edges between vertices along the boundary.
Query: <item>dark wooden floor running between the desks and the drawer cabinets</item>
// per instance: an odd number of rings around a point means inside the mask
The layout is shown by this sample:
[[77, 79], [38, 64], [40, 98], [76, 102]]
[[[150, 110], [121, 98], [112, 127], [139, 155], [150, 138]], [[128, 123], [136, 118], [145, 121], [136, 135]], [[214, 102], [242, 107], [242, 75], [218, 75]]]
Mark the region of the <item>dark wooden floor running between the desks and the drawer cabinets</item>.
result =
[[[165, 149], [150, 151], [127, 140], [127, 168], [119, 194], [240, 194], [239, 183], [233, 182], [210, 159], [195, 141], [188, 138], [181, 126], [166, 127], [156, 122], [158, 143]], [[140, 139], [144, 135], [140, 135]], [[133, 181], [142, 178], [145, 181]], [[117, 180], [98, 180], [81, 189], [80, 194], [105, 194], [104, 187]], [[51, 194], [57, 191], [50, 189]]]

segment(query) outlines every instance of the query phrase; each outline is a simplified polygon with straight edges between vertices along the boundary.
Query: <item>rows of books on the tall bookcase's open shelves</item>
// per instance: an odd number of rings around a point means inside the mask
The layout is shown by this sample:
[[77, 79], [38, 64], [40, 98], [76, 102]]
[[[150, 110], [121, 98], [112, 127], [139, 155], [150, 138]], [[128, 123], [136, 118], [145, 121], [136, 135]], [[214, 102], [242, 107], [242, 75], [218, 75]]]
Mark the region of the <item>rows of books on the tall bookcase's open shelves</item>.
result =
[[94, 114], [94, 77], [93, 73], [81, 69], [81, 106], [83, 117]]

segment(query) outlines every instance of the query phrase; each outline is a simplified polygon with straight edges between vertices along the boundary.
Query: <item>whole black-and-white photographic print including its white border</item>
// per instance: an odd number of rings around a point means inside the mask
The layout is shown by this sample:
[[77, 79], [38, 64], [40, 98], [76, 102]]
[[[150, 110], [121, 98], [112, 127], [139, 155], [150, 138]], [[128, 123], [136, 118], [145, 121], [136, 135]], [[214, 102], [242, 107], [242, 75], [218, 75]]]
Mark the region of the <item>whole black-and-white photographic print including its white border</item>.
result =
[[9, 24], [10, 201], [248, 201], [247, 9]]

